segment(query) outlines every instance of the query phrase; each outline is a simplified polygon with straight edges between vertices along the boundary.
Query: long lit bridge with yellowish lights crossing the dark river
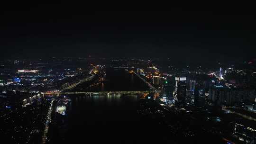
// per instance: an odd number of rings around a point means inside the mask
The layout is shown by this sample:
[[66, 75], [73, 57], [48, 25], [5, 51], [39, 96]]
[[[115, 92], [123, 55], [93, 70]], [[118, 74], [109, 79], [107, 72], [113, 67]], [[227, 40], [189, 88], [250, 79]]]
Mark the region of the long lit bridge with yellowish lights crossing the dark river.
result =
[[75, 95], [75, 94], [88, 94], [88, 95], [102, 95], [102, 94], [149, 94], [154, 91], [87, 91], [87, 92], [50, 92], [42, 93], [43, 95]]

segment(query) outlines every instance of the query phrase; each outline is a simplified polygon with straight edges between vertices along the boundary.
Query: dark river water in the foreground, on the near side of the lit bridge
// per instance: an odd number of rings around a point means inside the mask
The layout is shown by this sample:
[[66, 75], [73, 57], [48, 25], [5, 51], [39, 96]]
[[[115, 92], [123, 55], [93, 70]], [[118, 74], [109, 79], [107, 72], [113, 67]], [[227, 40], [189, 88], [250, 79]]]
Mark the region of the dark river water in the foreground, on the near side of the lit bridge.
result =
[[145, 133], [134, 95], [80, 97], [72, 101], [71, 111], [65, 136], [69, 142], [133, 143]]

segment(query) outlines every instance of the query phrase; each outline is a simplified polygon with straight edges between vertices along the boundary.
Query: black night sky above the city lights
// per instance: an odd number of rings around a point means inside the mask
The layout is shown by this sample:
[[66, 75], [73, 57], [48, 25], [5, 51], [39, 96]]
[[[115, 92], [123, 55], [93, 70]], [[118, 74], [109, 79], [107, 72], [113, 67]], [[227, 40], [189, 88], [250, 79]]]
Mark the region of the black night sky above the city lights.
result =
[[256, 54], [256, 17], [251, 9], [89, 8], [69, 3], [1, 5], [1, 58], [93, 55], [217, 61]]

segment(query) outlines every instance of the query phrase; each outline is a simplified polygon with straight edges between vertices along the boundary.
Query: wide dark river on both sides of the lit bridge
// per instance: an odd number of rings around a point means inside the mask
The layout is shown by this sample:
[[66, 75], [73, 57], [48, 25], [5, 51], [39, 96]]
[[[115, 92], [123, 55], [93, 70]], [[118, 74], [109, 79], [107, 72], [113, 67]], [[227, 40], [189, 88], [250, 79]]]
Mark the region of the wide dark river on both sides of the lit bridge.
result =
[[[90, 90], [148, 89], [136, 75], [125, 71], [109, 71], [107, 79], [108, 81]], [[137, 114], [137, 95], [72, 95], [70, 98], [72, 102], [69, 103], [67, 115], [57, 117], [58, 132], [55, 132], [54, 138], [50, 141], [53, 144], [144, 144], [158, 143], [159, 135], [163, 137], [157, 125]]]

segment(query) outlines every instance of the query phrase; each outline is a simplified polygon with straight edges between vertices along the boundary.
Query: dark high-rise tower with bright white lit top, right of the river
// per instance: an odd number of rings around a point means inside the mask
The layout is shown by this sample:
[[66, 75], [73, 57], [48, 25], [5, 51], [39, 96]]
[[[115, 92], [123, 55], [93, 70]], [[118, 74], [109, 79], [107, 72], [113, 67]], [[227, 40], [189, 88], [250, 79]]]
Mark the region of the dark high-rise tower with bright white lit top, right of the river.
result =
[[183, 107], [186, 105], [186, 77], [175, 77], [175, 81], [175, 105], [178, 107]]

